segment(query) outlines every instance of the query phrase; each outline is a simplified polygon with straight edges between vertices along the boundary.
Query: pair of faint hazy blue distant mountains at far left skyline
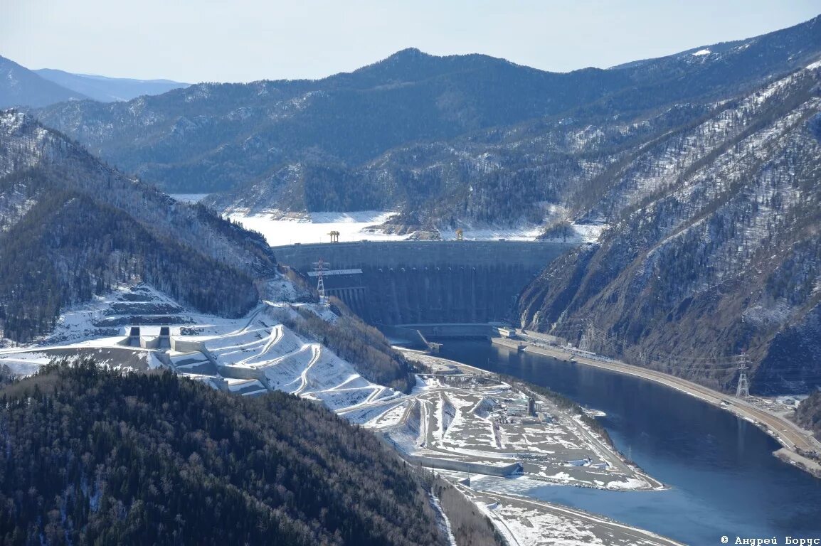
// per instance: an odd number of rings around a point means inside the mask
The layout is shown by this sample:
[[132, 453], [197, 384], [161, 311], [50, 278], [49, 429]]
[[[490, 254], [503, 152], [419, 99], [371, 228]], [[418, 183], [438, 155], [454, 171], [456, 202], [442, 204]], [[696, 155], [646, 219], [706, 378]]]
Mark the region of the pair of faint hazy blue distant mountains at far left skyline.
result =
[[0, 108], [44, 107], [55, 102], [92, 99], [127, 101], [187, 87], [171, 80], [131, 80], [71, 74], [48, 68], [31, 71], [0, 57]]

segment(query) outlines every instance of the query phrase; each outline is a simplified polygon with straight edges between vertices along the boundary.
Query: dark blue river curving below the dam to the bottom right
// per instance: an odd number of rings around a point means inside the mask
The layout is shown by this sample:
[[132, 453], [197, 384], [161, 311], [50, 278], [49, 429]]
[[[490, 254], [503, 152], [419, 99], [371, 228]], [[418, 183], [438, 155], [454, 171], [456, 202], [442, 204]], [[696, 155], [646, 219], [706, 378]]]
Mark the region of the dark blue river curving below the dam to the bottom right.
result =
[[773, 457], [779, 444], [718, 407], [627, 375], [480, 340], [442, 340], [442, 357], [515, 375], [607, 412], [617, 448], [671, 489], [623, 492], [547, 485], [528, 494], [687, 544], [821, 538], [821, 480]]

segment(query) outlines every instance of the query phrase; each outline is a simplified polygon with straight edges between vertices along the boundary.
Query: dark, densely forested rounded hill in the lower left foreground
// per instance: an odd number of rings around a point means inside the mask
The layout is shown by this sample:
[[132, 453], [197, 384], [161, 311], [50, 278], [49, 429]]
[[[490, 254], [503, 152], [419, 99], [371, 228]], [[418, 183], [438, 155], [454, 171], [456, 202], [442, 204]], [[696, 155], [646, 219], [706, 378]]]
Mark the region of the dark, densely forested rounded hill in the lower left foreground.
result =
[[448, 544], [412, 467], [308, 400], [85, 360], [0, 399], [2, 544]]

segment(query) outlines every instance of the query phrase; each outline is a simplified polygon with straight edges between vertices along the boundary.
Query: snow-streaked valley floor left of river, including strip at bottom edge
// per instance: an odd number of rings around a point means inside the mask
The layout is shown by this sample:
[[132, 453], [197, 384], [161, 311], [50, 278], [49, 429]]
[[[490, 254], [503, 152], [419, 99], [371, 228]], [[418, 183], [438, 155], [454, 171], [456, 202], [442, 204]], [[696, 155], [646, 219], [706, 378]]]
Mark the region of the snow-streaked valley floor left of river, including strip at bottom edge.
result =
[[[511, 385], [490, 379], [488, 372], [472, 366], [415, 351], [403, 350], [403, 353], [429, 367], [432, 372], [422, 375], [425, 388], [409, 397], [416, 395], [420, 404], [430, 406], [428, 411], [419, 412], [422, 420], [418, 432], [409, 423], [408, 414], [413, 412], [402, 412], [398, 420], [395, 418], [397, 414], [394, 414], [393, 419], [377, 418], [368, 421], [366, 426], [383, 430], [383, 434], [393, 440], [400, 453], [406, 455], [468, 455], [467, 458], [472, 462], [488, 463], [485, 453], [496, 451], [496, 457], [507, 454], [513, 455], [516, 460], [522, 460], [523, 472], [504, 476], [488, 475], [470, 467], [462, 471], [437, 469], [440, 475], [454, 482], [456, 488], [493, 521], [493, 525], [509, 544], [679, 544], [672, 539], [623, 525], [604, 516], [527, 496], [527, 490], [551, 483], [599, 489], [644, 489], [650, 491], [648, 494], [664, 489], [658, 480], [635, 466], [627, 465], [598, 435], [574, 419], [571, 412], [560, 410], [547, 398], [539, 397], [538, 412], [553, 412], [555, 425], [537, 425], [533, 421], [526, 421], [525, 417], [510, 428], [501, 425], [501, 434], [497, 435], [493, 432], [493, 425], [485, 425], [483, 430], [478, 422], [484, 420], [493, 423], [499, 418], [504, 419], [506, 414], [510, 416], [525, 412], [527, 396], [524, 393], [511, 388]], [[482, 394], [482, 398], [477, 401], [475, 397], [479, 394]], [[488, 411], [488, 398], [505, 400], [507, 412]], [[452, 404], [454, 407], [458, 406], [458, 422], [456, 411], [448, 411], [448, 402], [454, 399], [461, 400], [461, 403]], [[424, 424], [425, 421], [428, 425]], [[490, 433], [487, 432], [488, 428], [492, 430]], [[410, 438], [416, 442], [408, 441], [409, 430]], [[499, 444], [494, 448], [498, 438], [503, 439], [501, 447], [507, 453], [499, 453], [495, 449], [500, 447]], [[580, 458], [563, 460], [565, 457]], [[551, 468], [553, 471], [548, 474], [548, 469]], [[557, 468], [561, 470], [553, 474]]]

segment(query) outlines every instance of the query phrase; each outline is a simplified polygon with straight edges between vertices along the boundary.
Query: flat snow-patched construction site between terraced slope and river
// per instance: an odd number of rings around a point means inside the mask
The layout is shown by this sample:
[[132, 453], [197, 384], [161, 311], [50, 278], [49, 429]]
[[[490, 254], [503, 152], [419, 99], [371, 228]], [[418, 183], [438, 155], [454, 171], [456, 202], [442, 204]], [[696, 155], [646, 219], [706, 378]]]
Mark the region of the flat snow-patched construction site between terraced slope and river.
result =
[[406, 351], [429, 373], [408, 397], [364, 403], [342, 415], [378, 430], [406, 460], [445, 471], [521, 475], [601, 489], [661, 489], [627, 464], [582, 419], [486, 372]]

